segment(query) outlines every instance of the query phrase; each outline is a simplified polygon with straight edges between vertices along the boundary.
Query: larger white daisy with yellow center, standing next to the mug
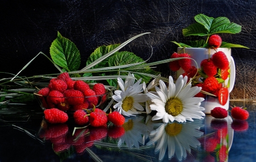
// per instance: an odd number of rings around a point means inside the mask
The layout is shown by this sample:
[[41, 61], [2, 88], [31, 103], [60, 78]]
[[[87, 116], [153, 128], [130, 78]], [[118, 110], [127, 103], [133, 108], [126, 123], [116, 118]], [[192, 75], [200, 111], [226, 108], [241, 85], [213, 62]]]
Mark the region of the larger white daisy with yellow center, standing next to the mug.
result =
[[200, 103], [204, 98], [193, 97], [199, 93], [201, 88], [191, 83], [187, 84], [188, 77], [180, 76], [176, 84], [172, 77], [169, 77], [168, 88], [162, 80], [159, 81], [160, 88], [155, 87], [156, 93], [147, 93], [153, 104], [150, 105], [151, 110], [158, 111], [152, 120], [162, 119], [164, 123], [169, 121], [186, 122], [193, 119], [203, 119], [204, 107], [200, 107]]

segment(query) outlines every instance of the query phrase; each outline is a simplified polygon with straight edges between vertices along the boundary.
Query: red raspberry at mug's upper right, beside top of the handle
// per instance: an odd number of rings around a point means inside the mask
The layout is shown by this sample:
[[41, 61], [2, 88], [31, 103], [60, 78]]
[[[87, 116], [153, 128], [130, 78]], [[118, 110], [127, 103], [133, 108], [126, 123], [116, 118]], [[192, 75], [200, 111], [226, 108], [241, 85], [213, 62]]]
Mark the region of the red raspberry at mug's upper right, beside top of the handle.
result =
[[220, 69], [226, 69], [229, 67], [228, 57], [226, 57], [225, 53], [222, 51], [214, 53], [212, 55], [212, 61], [213, 64]]

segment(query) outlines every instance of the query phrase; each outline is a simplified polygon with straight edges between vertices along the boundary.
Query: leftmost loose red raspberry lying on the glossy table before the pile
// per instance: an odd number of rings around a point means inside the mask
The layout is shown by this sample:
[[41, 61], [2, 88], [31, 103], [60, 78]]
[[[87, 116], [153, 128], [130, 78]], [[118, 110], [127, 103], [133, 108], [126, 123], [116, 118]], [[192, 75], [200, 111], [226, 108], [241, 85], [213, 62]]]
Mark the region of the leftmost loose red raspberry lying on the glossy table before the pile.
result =
[[44, 118], [49, 123], [65, 123], [68, 121], [68, 114], [56, 108], [44, 110]]

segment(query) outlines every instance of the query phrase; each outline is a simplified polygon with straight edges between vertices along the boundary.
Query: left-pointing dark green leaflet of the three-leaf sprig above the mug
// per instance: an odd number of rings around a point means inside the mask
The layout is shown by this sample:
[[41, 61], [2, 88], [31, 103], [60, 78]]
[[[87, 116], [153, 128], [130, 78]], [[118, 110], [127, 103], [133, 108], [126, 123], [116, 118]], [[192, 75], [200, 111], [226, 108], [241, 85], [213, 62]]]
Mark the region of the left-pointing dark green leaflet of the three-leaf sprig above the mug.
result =
[[197, 35], [206, 36], [208, 34], [207, 29], [200, 23], [194, 23], [182, 30], [184, 36]]

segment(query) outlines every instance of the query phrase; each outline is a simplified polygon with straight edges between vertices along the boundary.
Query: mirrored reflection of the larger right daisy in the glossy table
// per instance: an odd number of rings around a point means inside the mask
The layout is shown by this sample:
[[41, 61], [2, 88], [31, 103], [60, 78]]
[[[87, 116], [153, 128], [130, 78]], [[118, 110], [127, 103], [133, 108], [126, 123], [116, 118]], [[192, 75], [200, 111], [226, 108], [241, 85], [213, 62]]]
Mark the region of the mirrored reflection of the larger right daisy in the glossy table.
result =
[[168, 158], [176, 155], [178, 160], [187, 157], [187, 151], [191, 152], [191, 147], [200, 146], [199, 138], [203, 132], [199, 128], [203, 126], [202, 120], [195, 120], [187, 123], [162, 123], [156, 130], [151, 131], [151, 140], [147, 145], [157, 143], [155, 152], [159, 152], [159, 160], [163, 160], [168, 147]]

